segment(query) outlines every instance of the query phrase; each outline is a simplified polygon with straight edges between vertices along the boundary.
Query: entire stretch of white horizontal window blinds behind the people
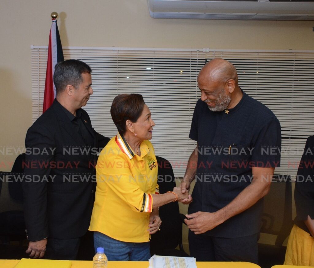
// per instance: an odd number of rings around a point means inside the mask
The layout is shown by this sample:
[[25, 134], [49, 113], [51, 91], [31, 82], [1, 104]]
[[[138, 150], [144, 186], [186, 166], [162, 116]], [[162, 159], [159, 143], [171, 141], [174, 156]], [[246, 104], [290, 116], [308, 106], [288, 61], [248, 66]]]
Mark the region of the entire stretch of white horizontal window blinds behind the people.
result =
[[[230, 51], [127, 48], [64, 48], [65, 59], [83, 60], [93, 70], [94, 95], [84, 109], [93, 127], [116, 134], [110, 107], [122, 93], [139, 93], [156, 123], [156, 155], [168, 159], [183, 176], [196, 143], [188, 138], [195, 103], [200, 97], [197, 74], [206, 60], [232, 62], [240, 87], [270, 108], [281, 123], [282, 156], [277, 174], [296, 175], [306, 138], [314, 134], [314, 51]], [[42, 113], [47, 47], [32, 46], [33, 121]]]

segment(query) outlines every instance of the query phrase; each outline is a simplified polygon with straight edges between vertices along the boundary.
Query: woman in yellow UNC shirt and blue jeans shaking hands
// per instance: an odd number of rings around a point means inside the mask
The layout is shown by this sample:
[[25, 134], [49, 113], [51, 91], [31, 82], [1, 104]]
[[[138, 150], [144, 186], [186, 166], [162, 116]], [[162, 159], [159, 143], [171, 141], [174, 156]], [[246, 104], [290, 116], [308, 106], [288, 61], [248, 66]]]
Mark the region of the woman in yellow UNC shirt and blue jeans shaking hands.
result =
[[90, 231], [108, 260], [148, 260], [150, 234], [160, 229], [158, 208], [185, 202], [180, 187], [159, 194], [157, 160], [149, 139], [155, 125], [139, 94], [122, 94], [111, 105], [118, 134], [100, 152]]

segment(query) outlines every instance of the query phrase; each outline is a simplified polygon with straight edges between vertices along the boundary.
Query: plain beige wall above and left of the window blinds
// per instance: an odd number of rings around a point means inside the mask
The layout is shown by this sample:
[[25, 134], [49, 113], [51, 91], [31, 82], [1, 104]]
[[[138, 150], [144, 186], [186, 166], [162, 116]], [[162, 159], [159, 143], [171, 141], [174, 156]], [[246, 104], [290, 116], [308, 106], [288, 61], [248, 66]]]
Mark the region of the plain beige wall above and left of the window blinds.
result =
[[[313, 49], [313, 21], [153, 19], [146, 0], [1, 0], [0, 147], [23, 146], [31, 124], [30, 45], [47, 45], [59, 13], [63, 46]], [[0, 153], [1, 154], [1, 153]], [[0, 171], [15, 155], [0, 155]]]

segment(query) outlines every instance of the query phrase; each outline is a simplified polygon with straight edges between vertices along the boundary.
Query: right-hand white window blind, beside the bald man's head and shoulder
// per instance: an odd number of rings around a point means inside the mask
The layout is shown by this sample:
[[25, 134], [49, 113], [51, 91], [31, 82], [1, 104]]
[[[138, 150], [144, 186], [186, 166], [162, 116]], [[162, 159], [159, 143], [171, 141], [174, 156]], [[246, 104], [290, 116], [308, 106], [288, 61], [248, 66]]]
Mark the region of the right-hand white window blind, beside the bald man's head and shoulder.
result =
[[[240, 87], [270, 108], [281, 125], [281, 166], [295, 178], [306, 138], [314, 134], [314, 53], [211, 51], [234, 64]], [[314, 153], [314, 150], [313, 150]]]

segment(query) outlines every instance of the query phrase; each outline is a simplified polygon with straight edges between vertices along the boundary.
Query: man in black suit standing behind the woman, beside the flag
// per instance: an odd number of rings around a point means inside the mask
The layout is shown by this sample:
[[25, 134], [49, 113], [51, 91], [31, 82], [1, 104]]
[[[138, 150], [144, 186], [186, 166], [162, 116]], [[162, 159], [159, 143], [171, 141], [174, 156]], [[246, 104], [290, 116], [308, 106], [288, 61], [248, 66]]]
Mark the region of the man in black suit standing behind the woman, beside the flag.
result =
[[109, 141], [91, 125], [85, 106], [91, 69], [66, 60], [55, 67], [57, 97], [28, 129], [23, 182], [30, 257], [75, 260], [87, 232], [95, 192], [97, 149]]

